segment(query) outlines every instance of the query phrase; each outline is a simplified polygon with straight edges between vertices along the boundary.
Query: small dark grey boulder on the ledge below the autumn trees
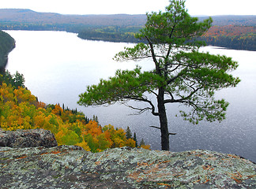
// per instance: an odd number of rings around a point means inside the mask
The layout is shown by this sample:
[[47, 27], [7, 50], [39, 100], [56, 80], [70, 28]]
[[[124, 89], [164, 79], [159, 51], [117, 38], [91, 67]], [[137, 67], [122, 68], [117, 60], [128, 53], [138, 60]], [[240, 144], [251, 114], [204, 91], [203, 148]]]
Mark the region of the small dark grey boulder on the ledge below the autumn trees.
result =
[[42, 128], [4, 131], [0, 128], [0, 146], [8, 147], [53, 147], [57, 146], [55, 135]]

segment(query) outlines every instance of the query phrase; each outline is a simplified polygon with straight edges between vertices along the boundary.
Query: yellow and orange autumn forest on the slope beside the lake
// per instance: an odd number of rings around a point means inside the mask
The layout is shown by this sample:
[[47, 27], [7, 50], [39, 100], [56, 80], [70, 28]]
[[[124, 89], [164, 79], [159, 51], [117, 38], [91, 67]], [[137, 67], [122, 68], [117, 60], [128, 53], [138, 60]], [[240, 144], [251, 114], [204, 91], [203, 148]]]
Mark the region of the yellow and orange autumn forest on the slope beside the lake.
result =
[[143, 139], [138, 145], [136, 133], [132, 137], [129, 127], [126, 131], [111, 124], [102, 127], [96, 116], [88, 119], [77, 109], [39, 102], [24, 86], [24, 76], [19, 72], [11, 75], [7, 70], [0, 75], [0, 125], [9, 131], [50, 130], [58, 145], [77, 145], [92, 152], [122, 146], [150, 148]]

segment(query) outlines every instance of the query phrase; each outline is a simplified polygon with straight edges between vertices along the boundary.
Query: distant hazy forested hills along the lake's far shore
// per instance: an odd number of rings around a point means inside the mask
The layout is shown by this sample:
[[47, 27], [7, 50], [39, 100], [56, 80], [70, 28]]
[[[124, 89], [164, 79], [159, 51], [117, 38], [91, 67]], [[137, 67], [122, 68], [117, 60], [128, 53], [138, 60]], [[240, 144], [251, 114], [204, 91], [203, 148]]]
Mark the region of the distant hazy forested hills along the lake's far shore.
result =
[[[203, 20], [205, 17], [198, 17]], [[256, 50], [256, 16], [213, 16], [212, 28], [201, 36], [207, 45]], [[146, 15], [62, 15], [30, 9], [0, 9], [0, 30], [69, 31], [81, 39], [140, 43], [134, 38]]]

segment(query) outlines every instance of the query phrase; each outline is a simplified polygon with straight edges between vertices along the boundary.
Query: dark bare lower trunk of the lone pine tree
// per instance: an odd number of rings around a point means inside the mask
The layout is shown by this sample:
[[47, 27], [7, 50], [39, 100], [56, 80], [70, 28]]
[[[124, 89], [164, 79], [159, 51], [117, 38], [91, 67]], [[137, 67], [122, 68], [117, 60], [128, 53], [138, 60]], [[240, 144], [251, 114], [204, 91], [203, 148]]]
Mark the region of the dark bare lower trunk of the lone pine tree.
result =
[[170, 150], [169, 131], [168, 131], [168, 119], [166, 116], [166, 109], [164, 106], [164, 89], [160, 88], [157, 97], [157, 106], [160, 120], [161, 131], [161, 146], [162, 150]]

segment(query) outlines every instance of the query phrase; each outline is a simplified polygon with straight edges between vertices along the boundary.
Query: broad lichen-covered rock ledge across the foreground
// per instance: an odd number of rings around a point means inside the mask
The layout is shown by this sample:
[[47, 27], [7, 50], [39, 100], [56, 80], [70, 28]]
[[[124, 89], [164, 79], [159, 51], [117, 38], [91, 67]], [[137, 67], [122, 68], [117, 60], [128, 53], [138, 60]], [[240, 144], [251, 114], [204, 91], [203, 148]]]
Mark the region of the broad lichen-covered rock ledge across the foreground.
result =
[[256, 165], [209, 150], [0, 147], [0, 188], [255, 188]]

